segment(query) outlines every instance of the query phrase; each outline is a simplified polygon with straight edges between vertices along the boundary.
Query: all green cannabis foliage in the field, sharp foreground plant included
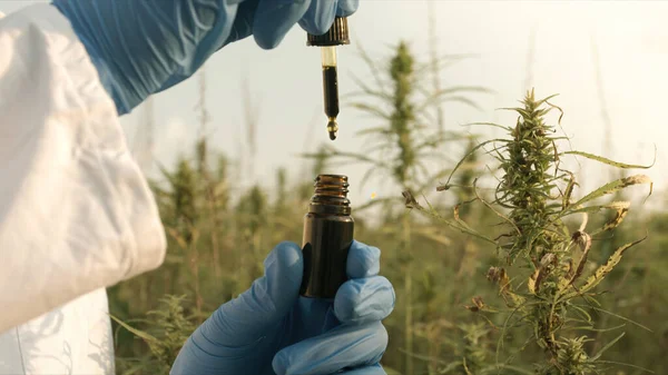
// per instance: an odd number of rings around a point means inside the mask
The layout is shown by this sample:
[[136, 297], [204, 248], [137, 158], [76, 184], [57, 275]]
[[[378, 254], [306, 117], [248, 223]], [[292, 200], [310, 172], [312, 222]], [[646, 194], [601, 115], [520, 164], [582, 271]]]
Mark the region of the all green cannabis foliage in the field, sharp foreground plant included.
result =
[[[638, 166], [562, 151], [548, 121], [556, 107], [531, 95], [513, 109], [513, 127], [492, 125], [507, 138], [480, 141], [439, 129], [438, 106], [475, 107], [470, 95], [487, 90], [424, 90], [428, 65], [405, 43], [386, 59], [362, 57], [371, 76], [357, 80], [361, 96], [348, 98], [377, 120], [358, 134], [370, 145], [363, 154], [327, 144], [311, 155], [305, 176], [279, 169], [273, 187], [246, 187], [232, 177], [235, 160], [202, 140], [193, 157], [151, 182], [168, 233], [167, 259], [109, 290], [118, 374], [168, 374], [187, 336], [249, 287], [277, 243], [301, 243], [313, 177], [351, 161], [369, 165], [367, 176], [377, 174], [397, 193], [353, 203], [355, 237], [383, 250], [382, 274], [396, 288], [396, 310], [384, 322], [389, 374], [636, 375], [642, 367], [668, 374], [668, 216], [629, 210], [623, 193], [651, 181], [620, 175], [579, 194], [561, 162]], [[440, 67], [460, 58], [444, 60]], [[458, 155], [461, 160], [450, 159]], [[485, 171], [489, 155], [497, 176]], [[492, 177], [498, 186], [490, 195], [479, 186]], [[452, 214], [443, 215], [453, 201]], [[410, 215], [404, 205], [429, 215]], [[377, 225], [366, 224], [371, 215]], [[620, 226], [626, 220], [635, 225]]]

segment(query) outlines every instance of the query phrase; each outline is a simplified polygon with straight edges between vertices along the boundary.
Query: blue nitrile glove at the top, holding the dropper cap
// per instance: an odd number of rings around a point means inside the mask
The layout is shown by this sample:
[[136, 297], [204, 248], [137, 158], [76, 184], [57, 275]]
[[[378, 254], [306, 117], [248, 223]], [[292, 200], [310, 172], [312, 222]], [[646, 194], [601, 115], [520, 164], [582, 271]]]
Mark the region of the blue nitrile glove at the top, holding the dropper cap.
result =
[[125, 115], [151, 93], [189, 78], [224, 46], [250, 34], [278, 46], [295, 23], [326, 32], [360, 0], [53, 0], [86, 46]]

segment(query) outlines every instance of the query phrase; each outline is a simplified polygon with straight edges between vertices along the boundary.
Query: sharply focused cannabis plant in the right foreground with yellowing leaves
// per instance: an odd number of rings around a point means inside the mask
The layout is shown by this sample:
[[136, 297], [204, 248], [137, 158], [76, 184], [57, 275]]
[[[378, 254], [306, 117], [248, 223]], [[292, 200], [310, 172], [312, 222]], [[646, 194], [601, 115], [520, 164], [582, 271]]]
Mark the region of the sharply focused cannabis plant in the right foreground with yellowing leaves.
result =
[[[493, 146], [490, 154], [499, 162], [500, 176], [492, 197], [484, 197], [473, 181], [470, 188], [475, 197], [455, 206], [453, 217], [446, 218], [433, 207], [420, 205], [411, 191], [405, 191], [404, 196], [406, 206], [438, 217], [449, 227], [495, 247], [499, 264], [489, 268], [487, 278], [497, 286], [504, 307], [488, 304], [477, 296], [468, 308], [498, 330], [500, 338], [493, 363], [500, 373], [508, 372], [519, 352], [533, 347], [542, 352], [544, 358], [536, 363], [538, 374], [603, 374], [615, 362], [605, 361], [602, 354], [623, 333], [600, 345], [596, 353], [587, 351], [587, 343], [593, 339], [589, 333], [603, 328], [592, 318], [596, 315], [592, 312], [615, 315], [600, 308], [597, 297], [602, 290], [597, 286], [642, 238], [619, 246], [607, 261], [589, 272], [595, 244], [613, 231], [630, 208], [629, 201], [601, 201], [600, 198], [639, 184], [649, 185], [651, 194], [652, 182], [646, 175], [632, 175], [578, 197], [576, 175], [561, 161], [567, 156], [580, 156], [625, 169], [650, 166], [626, 165], [581, 151], [562, 151], [558, 142], [564, 138], [557, 137], [556, 127], [547, 120], [551, 110], [561, 111], [550, 103], [551, 98], [538, 100], [530, 91], [522, 107], [509, 108], [519, 115], [514, 127], [493, 125], [505, 130], [508, 138], [488, 140], [473, 148], [472, 151]], [[450, 190], [453, 188], [450, 181], [448, 179], [436, 189]], [[474, 201], [500, 219], [501, 230], [495, 237], [461, 217], [462, 208]], [[589, 216], [599, 211], [613, 215], [600, 227], [591, 227]], [[522, 337], [523, 343], [517, 342], [518, 337]], [[515, 339], [519, 351], [507, 353], [503, 358], [503, 343], [510, 338]], [[483, 355], [475, 358], [475, 366], [484, 368], [482, 362], [489, 358]], [[465, 373], [469, 374], [469, 369]]]

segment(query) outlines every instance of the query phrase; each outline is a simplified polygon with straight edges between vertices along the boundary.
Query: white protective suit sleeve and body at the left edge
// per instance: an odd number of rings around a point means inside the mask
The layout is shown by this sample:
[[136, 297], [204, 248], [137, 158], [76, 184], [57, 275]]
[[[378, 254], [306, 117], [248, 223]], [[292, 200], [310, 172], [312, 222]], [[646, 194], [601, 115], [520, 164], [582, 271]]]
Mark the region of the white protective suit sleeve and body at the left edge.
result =
[[0, 375], [114, 374], [105, 288], [165, 248], [69, 21], [45, 3], [0, 19]]

